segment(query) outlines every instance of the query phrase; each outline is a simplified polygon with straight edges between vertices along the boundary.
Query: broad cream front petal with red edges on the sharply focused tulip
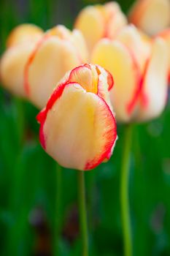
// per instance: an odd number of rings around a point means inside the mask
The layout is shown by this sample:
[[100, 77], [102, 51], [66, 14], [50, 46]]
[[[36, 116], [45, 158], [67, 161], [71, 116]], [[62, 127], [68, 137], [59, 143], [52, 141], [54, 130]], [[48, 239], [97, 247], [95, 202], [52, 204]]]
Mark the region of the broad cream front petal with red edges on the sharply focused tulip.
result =
[[77, 83], [67, 83], [56, 89], [55, 102], [49, 102], [39, 121], [40, 140], [51, 157], [78, 170], [90, 170], [110, 157], [116, 124], [104, 99]]

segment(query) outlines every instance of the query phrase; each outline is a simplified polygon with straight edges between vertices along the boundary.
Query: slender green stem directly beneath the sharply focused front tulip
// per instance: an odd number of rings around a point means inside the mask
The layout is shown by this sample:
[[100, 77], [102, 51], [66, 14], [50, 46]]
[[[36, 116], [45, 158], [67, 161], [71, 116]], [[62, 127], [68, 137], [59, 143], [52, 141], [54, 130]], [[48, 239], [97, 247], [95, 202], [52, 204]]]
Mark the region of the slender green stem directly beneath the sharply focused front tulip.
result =
[[80, 231], [82, 236], [82, 256], [88, 256], [88, 221], [85, 203], [85, 173], [78, 171], [78, 197], [80, 212]]

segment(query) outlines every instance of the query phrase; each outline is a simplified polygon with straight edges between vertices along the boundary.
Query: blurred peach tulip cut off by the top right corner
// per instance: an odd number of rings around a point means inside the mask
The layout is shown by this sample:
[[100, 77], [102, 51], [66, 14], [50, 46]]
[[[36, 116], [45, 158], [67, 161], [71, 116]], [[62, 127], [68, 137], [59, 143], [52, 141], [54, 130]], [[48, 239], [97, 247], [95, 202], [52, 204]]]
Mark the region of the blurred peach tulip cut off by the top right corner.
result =
[[170, 26], [169, 0], [137, 0], [129, 20], [147, 34], [155, 35]]

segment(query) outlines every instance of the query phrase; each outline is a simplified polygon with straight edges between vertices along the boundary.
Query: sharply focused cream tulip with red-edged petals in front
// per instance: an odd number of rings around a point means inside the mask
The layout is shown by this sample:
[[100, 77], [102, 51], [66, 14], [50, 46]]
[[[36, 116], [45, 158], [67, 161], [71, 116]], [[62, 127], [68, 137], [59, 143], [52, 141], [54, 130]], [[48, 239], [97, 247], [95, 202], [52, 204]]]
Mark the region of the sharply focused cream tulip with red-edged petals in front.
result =
[[112, 84], [109, 72], [97, 65], [76, 67], [37, 116], [43, 148], [63, 167], [90, 170], [111, 157], [117, 138]]

